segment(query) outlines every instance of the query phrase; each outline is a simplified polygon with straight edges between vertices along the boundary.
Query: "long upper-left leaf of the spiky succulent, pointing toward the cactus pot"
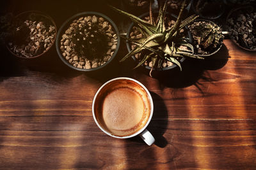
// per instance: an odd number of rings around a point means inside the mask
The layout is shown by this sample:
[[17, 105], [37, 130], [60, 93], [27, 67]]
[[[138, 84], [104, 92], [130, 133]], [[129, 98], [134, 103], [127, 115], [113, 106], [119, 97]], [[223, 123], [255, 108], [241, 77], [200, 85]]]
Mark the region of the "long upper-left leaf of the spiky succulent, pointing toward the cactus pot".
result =
[[127, 13], [125, 11], [119, 10], [118, 8], [115, 8], [114, 6], [110, 6], [113, 10], [118, 11], [118, 13], [125, 15], [126, 17], [129, 17], [133, 22], [138, 24], [141, 29], [145, 30], [149, 35], [156, 33], [156, 27], [154, 25], [148, 24], [145, 22], [145, 20], [142, 20], [139, 17], [136, 17], [135, 15], [132, 15], [131, 13]]

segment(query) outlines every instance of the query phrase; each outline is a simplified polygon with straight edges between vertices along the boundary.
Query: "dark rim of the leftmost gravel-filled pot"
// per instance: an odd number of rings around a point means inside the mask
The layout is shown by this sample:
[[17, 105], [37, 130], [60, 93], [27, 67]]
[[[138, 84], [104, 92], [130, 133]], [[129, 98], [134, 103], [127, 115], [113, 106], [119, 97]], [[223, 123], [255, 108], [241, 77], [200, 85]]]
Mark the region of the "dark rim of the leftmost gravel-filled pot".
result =
[[20, 55], [17, 55], [16, 53], [14, 53], [14, 52], [9, 48], [8, 44], [6, 44], [6, 48], [8, 49], [8, 51], [9, 51], [10, 53], [12, 53], [12, 55], [15, 55], [16, 57], [19, 57], [20, 59], [35, 59], [35, 58], [40, 57], [41, 55], [44, 55], [45, 53], [47, 53], [47, 52], [52, 48], [52, 46], [55, 44], [56, 37], [57, 37], [57, 32], [58, 32], [56, 23], [54, 22], [53, 18], [52, 18], [50, 15], [48, 15], [48, 14], [42, 12], [42, 11], [37, 11], [37, 10], [23, 11], [22, 13], [19, 13], [18, 15], [16, 15], [15, 18], [18, 18], [18, 17], [20, 17], [20, 16], [22, 16], [22, 15], [26, 15], [26, 14], [28, 14], [28, 13], [35, 13], [36, 15], [41, 15], [42, 17], [47, 18], [47, 19], [48, 19], [49, 21], [51, 21], [52, 24], [54, 25], [55, 30], [56, 30], [56, 34], [55, 34], [55, 36], [54, 36], [54, 41], [53, 41], [53, 43], [51, 44], [51, 46], [49, 46], [49, 49], [48, 49], [48, 50], [45, 50], [45, 52], [42, 52], [42, 53], [40, 53], [40, 54], [38, 54], [38, 55], [35, 55], [35, 56], [33, 56], [33, 57], [22, 57], [22, 56], [20, 56]]

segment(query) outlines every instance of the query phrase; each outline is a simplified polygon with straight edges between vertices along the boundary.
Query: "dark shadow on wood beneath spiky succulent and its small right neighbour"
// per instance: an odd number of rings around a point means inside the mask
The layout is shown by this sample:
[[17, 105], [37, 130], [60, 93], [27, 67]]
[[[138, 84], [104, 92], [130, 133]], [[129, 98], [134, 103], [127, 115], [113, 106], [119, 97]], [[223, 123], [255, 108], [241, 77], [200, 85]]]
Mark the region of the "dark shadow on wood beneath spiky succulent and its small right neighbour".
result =
[[[228, 58], [228, 49], [223, 44], [218, 53], [211, 57], [205, 57], [204, 60], [186, 59], [182, 63], [182, 71], [175, 67], [166, 73], [156, 75], [159, 87], [184, 88], [195, 85], [200, 90], [198, 80], [201, 78], [206, 80], [205, 71], [221, 69], [227, 64]], [[208, 79], [208, 81], [210, 80]]]

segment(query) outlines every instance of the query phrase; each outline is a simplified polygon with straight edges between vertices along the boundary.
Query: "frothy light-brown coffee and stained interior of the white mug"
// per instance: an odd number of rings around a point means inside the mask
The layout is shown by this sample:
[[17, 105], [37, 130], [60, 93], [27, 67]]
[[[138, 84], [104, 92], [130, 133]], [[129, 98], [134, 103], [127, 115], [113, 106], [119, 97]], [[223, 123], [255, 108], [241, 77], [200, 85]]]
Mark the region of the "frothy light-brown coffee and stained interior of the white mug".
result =
[[100, 125], [115, 136], [129, 136], [148, 121], [147, 92], [131, 80], [115, 80], [98, 94], [95, 115]]

